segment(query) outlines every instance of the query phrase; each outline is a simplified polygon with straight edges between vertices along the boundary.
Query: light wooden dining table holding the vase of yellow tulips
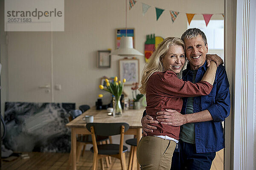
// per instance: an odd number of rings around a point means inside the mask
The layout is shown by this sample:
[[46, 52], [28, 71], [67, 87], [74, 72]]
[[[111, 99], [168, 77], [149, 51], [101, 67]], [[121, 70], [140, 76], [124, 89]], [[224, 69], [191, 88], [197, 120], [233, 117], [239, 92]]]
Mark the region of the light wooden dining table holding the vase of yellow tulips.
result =
[[[71, 128], [71, 164], [72, 170], [76, 170], [76, 136], [78, 134], [88, 135], [91, 134], [87, 128], [86, 123], [82, 120], [82, 117], [85, 115], [93, 115], [94, 123], [117, 123], [117, 122], [125, 122], [129, 124], [129, 129], [125, 132], [127, 135], [136, 135], [137, 136], [137, 144], [142, 137], [142, 126], [141, 126], [141, 118], [143, 115], [143, 111], [145, 107], [140, 108], [138, 110], [129, 109], [127, 111], [123, 111], [122, 116], [109, 116], [106, 110], [96, 110], [95, 107], [87, 110], [82, 113], [80, 116], [73, 119], [71, 122], [66, 124], [67, 127]], [[140, 165], [137, 163], [137, 159], [133, 159], [133, 163], [137, 164], [137, 170], [140, 170]], [[68, 165], [70, 166], [70, 165]]]

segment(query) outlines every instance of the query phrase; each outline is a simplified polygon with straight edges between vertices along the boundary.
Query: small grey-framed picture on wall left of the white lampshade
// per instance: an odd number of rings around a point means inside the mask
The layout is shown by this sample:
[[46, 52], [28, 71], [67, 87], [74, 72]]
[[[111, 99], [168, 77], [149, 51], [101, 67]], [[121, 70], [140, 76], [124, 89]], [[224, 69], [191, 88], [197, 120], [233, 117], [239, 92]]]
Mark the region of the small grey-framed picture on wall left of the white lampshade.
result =
[[111, 51], [98, 51], [98, 68], [110, 68], [111, 67]]

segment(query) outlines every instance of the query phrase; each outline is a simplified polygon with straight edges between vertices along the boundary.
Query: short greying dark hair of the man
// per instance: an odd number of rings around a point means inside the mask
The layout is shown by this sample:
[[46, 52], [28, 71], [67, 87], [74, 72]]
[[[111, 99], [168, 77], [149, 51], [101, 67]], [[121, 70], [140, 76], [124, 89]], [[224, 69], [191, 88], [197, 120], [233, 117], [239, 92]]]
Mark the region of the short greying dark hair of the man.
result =
[[[181, 40], [190, 40], [192, 38], [198, 37], [198, 35], [201, 35], [201, 37], [204, 40], [204, 45], [207, 44], [207, 39], [203, 31], [201, 31], [198, 28], [189, 28], [187, 29], [181, 36]], [[185, 42], [185, 41], [184, 41]]]

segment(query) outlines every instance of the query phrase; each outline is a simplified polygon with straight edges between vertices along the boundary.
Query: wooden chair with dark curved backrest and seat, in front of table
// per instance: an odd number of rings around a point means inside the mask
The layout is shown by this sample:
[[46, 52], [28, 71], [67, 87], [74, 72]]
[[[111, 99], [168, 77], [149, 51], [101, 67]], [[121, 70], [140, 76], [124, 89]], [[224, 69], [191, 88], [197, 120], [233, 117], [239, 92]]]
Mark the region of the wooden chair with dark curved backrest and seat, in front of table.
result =
[[[127, 123], [88, 123], [87, 129], [92, 133], [93, 147], [93, 170], [97, 170], [98, 160], [107, 156], [113, 156], [121, 161], [122, 170], [127, 170], [125, 152], [128, 150], [124, 146], [124, 134], [129, 129]], [[120, 134], [120, 144], [97, 144], [96, 135], [113, 136]]]

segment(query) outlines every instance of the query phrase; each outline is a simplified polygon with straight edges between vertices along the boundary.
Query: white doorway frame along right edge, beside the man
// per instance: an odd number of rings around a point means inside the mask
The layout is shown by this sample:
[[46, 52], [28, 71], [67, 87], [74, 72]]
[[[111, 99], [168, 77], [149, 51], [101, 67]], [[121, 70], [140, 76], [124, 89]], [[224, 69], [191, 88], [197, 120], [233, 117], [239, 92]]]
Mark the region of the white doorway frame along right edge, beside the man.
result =
[[255, 9], [255, 0], [224, 1], [224, 58], [231, 94], [230, 116], [225, 121], [224, 170], [253, 169]]

